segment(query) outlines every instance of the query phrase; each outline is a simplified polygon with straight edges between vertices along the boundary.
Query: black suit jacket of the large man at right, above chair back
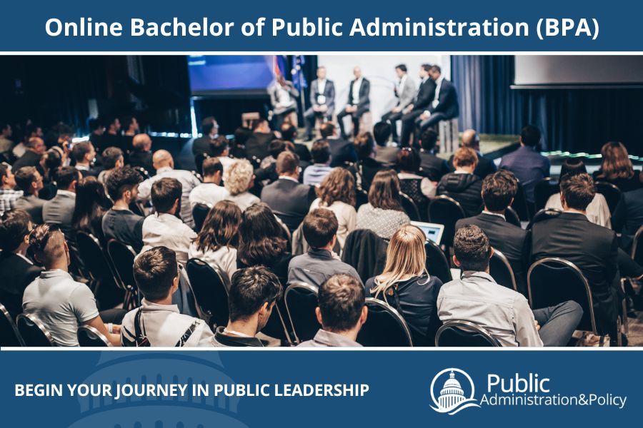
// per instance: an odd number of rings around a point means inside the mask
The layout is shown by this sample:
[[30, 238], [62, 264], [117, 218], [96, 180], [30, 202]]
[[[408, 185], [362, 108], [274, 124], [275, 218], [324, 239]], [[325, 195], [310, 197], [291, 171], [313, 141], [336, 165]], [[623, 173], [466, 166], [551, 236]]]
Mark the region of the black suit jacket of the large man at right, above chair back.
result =
[[532, 258], [546, 257], [563, 258], [577, 265], [592, 289], [599, 319], [604, 323], [616, 320], [619, 275], [614, 231], [590, 223], [577, 213], [562, 213], [540, 221], [532, 228]]

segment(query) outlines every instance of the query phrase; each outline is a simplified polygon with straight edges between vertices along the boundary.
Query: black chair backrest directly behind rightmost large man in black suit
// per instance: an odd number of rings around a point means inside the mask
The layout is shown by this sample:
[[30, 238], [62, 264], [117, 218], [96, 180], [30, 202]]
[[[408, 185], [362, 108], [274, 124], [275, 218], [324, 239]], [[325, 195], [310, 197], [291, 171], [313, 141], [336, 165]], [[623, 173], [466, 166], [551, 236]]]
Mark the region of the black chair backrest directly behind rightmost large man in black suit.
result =
[[538, 260], [527, 272], [527, 291], [532, 309], [574, 300], [583, 308], [583, 317], [577, 330], [599, 334], [594, 317], [592, 291], [587, 278], [574, 263], [562, 258]]

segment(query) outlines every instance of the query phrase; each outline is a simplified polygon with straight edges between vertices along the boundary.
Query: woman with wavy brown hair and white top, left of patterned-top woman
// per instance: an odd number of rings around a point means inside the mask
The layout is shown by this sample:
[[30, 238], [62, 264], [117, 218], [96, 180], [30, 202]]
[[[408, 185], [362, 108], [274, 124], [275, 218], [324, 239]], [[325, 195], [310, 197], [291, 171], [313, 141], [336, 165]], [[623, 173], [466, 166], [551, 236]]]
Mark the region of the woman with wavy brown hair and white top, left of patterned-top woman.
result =
[[333, 168], [319, 184], [319, 198], [310, 205], [310, 210], [328, 208], [337, 217], [337, 240], [344, 248], [346, 237], [355, 229], [357, 211], [355, 210], [355, 180], [344, 168]]

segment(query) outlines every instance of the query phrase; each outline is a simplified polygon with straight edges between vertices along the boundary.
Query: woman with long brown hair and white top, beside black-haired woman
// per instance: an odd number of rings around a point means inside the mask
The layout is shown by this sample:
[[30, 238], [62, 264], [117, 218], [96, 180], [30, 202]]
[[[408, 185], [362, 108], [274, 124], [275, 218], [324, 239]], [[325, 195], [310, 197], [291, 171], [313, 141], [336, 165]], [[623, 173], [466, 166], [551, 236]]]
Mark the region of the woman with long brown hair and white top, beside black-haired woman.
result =
[[236, 247], [238, 245], [241, 209], [229, 200], [221, 200], [212, 207], [201, 232], [188, 250], [189, 258], [198, 258], [212, 267], [228, 274], [236, 271]]

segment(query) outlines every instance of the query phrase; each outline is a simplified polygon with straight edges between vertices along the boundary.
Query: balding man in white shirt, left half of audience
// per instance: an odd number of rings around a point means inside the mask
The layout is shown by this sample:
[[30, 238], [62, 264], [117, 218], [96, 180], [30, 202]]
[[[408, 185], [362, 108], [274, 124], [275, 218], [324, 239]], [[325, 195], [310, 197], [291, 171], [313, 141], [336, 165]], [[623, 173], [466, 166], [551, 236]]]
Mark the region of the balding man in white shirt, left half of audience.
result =
[[152, 157], [152, 163], [154, 164], [156, 175], [148, 178], [139, 185], [139, 200], [149, 200], [152, 185], [156, 183], [156, 181], [161, 180], [161, 178], [176, 178], [176, 180], [179, 180], [179, 183], [181, 183], [183, 188], [183, 193], [181, 194], [181, 205], [179, 205], [181, 208], [181, 219], [183, 219], [185, 224], [190, 228], [194, 228], [194, 219], [192, 219], [192, 210], [189, 198], [192, 189], [201, 184], [201, 182], [189, 171], [175, 170], [174, 159], [169, 151], [155, 151], [154, 156]]

